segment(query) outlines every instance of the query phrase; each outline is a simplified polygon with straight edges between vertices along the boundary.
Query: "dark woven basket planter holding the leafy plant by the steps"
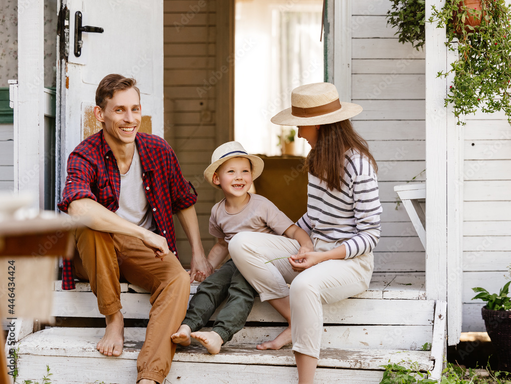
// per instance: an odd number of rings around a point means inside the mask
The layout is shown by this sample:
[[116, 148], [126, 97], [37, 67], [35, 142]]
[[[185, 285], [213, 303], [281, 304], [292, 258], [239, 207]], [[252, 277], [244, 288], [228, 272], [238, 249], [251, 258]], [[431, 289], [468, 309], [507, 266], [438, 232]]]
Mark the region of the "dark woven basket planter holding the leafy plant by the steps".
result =
[[511, 311], [483, 307], [481, 314], [499, 357], [499, 370], [511, 372]]

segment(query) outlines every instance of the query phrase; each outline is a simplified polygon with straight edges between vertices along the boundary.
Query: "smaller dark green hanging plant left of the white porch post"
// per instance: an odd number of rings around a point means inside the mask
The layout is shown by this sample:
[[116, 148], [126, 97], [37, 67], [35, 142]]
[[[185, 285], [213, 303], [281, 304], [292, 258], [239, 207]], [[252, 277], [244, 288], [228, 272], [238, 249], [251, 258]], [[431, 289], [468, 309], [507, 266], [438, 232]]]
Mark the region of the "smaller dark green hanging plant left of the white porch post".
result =
[[399, 42], [409, 42], [418, 51], [426, 41], [425, 0], [391, 0], [390, 3], [387, 25], [398, 29], [394, 35], [399, 35]]

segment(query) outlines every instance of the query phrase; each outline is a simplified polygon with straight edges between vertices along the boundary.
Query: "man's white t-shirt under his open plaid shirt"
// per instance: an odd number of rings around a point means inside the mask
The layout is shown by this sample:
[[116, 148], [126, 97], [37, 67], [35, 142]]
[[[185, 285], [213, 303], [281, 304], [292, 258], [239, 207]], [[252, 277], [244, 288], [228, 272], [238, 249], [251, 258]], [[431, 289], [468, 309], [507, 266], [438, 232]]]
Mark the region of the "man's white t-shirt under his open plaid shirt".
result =
[[153, 211], [150, 208], [142, 180], [140, 155], [135, 145], [129, 170], [124, 175], [121, 174], [119, 209], [115, 213], [130, 223], [154, 231], [156, 224], [153, 220]]

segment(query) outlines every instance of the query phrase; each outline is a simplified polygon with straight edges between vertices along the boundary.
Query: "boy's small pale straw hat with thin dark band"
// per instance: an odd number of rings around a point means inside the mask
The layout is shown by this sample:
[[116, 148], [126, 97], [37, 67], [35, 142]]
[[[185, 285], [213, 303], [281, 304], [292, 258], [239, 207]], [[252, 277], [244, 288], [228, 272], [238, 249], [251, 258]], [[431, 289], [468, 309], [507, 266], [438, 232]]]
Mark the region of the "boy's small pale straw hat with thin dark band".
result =
[[254, 155], [249, 155], [245, 148], [238, 141], [229, 141], [218, 147], [213, 156], [211, 156], [211, 164], [204, 171], [204, 179], [215, 188], [222, 189], [220, 185], [213, 183], [213, 174], [225, 161], [233, 157], [246, 157], [252, 163], [252, 180], [261, 176], [264, 168], [264, 161]]

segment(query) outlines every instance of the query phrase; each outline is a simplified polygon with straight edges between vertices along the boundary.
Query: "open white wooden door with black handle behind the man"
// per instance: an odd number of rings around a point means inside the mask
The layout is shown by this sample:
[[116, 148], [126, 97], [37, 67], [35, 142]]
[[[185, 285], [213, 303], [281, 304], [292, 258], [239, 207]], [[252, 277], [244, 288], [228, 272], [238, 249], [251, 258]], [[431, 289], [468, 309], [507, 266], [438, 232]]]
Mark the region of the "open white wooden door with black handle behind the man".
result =
[[[58, 0], [56, 196], [61, 197], [67, 156], [101, 129], [94, 117], [96, 88], [108, 74], [137, 80], [141, 131], [164, 135], [163, 0]], [[103, 33], [82, 32], [75, 54], [75, 19]]]

